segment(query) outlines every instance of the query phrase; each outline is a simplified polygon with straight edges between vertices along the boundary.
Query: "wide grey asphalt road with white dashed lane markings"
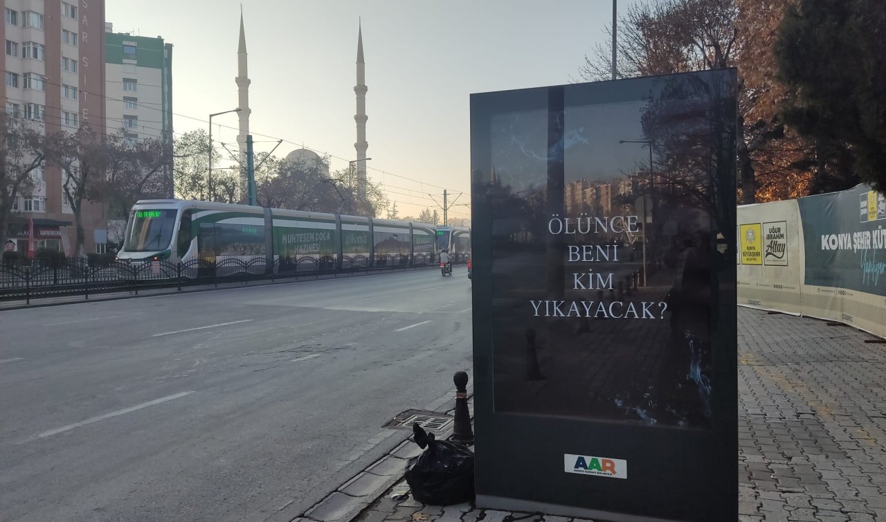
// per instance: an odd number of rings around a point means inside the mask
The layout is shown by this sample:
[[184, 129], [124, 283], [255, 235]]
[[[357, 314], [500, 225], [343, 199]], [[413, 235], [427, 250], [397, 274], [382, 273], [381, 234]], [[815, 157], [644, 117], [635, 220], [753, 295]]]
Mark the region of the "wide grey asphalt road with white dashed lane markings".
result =
[[0, 520], [298, 514], [470, 371], [438, 270], [0, 312]]

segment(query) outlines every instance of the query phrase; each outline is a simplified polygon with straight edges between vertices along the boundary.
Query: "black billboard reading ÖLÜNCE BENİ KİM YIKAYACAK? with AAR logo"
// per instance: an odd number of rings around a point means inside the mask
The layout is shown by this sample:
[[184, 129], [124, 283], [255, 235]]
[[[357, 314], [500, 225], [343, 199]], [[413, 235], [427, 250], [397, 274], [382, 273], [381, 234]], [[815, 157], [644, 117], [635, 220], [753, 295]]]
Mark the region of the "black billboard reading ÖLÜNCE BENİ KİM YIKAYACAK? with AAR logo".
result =
[[478, 507], [737, 518], [735, 82], [471, 96]]

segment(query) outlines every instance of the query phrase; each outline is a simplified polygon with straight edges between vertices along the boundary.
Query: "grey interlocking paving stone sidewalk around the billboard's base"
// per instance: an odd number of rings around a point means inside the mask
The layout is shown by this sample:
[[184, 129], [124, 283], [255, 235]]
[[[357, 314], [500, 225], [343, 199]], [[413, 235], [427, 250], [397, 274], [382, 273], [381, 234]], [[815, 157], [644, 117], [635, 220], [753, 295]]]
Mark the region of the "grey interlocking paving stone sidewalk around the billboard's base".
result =
[[[886, 522], [886, 344], [749, 308], [738, 335], [738, 519]], [[392, 498], [404, 491], [400, 481], [354, 522], [573, 520]]]

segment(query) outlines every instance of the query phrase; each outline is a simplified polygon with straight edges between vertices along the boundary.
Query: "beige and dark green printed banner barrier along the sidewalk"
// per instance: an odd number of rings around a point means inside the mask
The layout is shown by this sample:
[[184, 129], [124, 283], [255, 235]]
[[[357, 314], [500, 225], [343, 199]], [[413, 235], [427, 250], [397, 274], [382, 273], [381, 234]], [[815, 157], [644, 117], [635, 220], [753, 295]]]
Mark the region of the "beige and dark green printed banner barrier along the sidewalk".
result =
[[740, 206], [738, 223], [740, 305], [832, 319], [886, 336], [883, 194], [859, 185]]

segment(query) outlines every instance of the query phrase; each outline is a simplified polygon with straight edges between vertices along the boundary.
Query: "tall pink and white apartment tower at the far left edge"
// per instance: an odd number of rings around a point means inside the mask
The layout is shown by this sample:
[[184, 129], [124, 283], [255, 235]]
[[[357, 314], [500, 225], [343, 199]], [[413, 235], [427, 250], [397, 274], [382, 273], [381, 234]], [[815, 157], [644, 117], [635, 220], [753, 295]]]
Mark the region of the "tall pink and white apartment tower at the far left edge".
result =
[[[5, 41], [0, 84], [6, 113], [33, 121], [47, 135], [88, 125], [105, 132], [104, 0], [4, 0]], [[10, 236], [20, 253], [49, 248], [73, 254], [74, 215], [63, 196], [60, 168], [32, 173], [34, 190], [17, 201]], [[84, 252], [104, 252], [104, 206], [82, 211]], [[33, 229], [33, 236], [31, 230]]]

